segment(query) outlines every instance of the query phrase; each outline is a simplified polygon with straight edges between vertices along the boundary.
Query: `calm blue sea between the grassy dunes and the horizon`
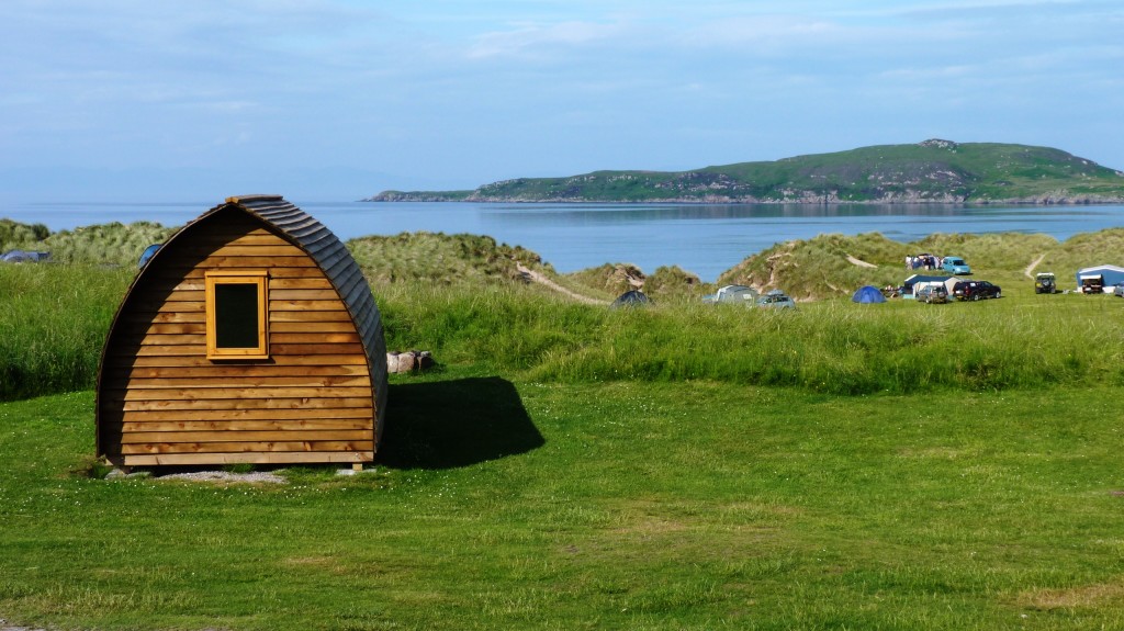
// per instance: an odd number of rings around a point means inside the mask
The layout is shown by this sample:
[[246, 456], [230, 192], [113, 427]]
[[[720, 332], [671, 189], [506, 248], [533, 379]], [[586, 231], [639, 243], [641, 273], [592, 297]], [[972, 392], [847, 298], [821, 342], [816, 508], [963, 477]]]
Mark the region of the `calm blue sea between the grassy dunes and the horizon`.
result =
[[[773, 244], [821, 234], [881, 232], [909, 243], [935, 232], [1041, 232], [1064, 240], [1124, 227], [1124, 205], [772, 205], [370, 203], [290, 200], [342, 239], [404, 231], [469, 232], [520, 245], [559, 272], [631, 263], [678, 265], [714, 281]], [[215, 202], [8, 203], [0, 217], [52, 230], [120, 221], [179, 226]], [[953, 253], [944, 253], [953, 254]]]

